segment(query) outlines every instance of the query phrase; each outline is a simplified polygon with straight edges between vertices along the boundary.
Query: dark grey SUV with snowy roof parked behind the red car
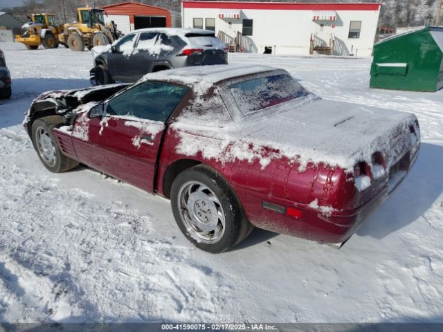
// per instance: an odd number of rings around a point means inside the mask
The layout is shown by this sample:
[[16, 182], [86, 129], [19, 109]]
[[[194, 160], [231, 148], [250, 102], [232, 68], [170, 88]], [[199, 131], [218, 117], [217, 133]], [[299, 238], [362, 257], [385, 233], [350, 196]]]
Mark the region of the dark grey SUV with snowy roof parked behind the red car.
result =
[[93, 85], [136, 82], [165, 69], [228, 63], [228, 46], [213, 31], [201, 29], [136, 30], [111, 46], [94, 47], [92, 53]]

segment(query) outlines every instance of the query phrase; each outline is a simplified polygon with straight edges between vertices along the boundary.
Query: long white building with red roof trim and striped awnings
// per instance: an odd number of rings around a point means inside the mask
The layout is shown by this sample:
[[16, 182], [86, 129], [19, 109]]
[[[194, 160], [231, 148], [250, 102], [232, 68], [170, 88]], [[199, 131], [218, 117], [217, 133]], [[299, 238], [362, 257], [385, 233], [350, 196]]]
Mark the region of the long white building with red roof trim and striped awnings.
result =
[[183, 28], [214, 30], [231, 50], [369, 56], [381, 3], [188, 1]]

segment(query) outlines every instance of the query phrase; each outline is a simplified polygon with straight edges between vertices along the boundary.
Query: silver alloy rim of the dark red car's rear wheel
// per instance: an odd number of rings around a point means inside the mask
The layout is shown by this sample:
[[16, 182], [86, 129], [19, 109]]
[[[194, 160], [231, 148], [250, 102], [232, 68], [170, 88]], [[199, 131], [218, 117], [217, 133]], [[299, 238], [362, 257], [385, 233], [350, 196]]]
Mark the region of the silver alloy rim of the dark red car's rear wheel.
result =
[[223, 237], [224, 212], [212, 190], [198, 181], [189, 181], [181, 186], [177, 198], [181, 222], [192, 239], [213, 244]]

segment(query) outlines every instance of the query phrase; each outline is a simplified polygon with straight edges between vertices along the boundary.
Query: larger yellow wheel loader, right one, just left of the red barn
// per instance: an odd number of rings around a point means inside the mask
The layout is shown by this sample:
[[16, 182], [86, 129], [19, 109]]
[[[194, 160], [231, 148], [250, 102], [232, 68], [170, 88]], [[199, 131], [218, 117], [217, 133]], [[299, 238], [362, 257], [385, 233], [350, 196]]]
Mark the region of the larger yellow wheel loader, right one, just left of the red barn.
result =
[[114, 21], [105, 24], [103, 10], [98, 8], [78, 8], [78, 21], [63, 25], [63, 33], [58, 35], [59, 42], [71, 50], [91, 50], [93, 46], [107, 45], [120, 38]]

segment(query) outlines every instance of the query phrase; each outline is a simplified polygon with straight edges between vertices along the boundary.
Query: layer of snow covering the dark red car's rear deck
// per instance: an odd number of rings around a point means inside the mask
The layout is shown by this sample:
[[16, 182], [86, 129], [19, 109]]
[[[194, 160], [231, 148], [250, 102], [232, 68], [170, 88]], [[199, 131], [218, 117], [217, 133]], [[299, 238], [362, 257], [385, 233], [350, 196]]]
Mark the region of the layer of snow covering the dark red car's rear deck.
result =
[[[257, 158], [263, 168], [271, 159], [284, 156], [298, 163], [300, 172], [309, 163], [352, 172], [360, 161], [371, 163], [376, 151], [383, 154], [390, 167], [413, 144], [411, 126], [415, 142], [419, 140], [417, 118], [411, 113], [319, 98], [286, 102], [223, 128], [192, 129], [190, 123], [176, 126], [181, 132], [179, 153], [200, 152], [221, 161]], [[201, 136], [214, 140], [201, 140]]]

